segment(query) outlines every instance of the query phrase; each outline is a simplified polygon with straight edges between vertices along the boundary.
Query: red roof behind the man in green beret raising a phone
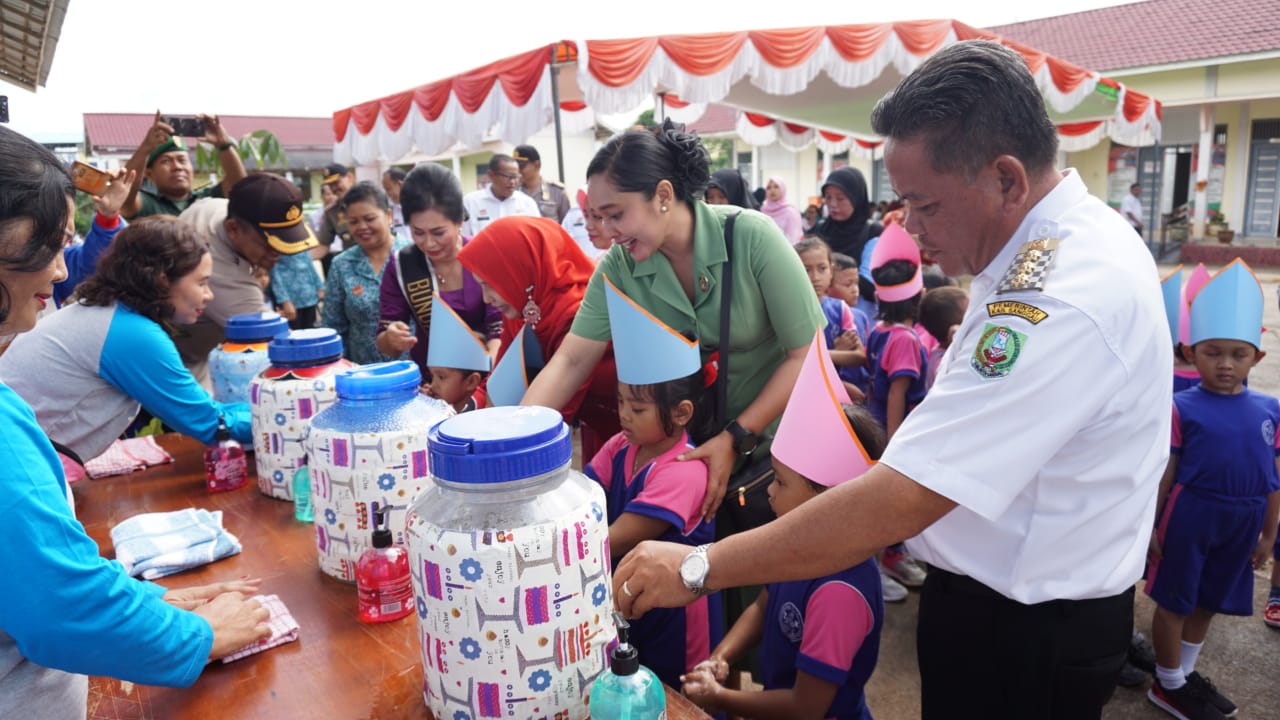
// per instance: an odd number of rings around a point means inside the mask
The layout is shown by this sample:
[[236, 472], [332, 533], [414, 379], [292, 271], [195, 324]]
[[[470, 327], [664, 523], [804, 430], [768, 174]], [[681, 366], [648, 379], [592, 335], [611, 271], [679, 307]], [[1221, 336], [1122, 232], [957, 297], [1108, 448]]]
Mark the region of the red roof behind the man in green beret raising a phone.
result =
[[[180, 113], [168, 113], [178, 115]], [[92, 150], [133, 149], [147, 135], [154, 113], [84, 113], [84, 147]], [[264, 115], [219, 115], [234, 137], [269, 129], [285, 151], [333, 150], [332, 118], [273, 118]]]

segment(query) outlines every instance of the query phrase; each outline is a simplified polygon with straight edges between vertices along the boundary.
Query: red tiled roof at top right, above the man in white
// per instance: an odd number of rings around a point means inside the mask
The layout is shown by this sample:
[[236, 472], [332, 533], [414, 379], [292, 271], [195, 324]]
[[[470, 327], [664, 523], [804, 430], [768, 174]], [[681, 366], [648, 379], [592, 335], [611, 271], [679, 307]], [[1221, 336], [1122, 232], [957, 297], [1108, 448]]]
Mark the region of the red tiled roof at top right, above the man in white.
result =
[[1148, 0], [987, 29], [1106, 72], [1280, 50], [1280, 6]]

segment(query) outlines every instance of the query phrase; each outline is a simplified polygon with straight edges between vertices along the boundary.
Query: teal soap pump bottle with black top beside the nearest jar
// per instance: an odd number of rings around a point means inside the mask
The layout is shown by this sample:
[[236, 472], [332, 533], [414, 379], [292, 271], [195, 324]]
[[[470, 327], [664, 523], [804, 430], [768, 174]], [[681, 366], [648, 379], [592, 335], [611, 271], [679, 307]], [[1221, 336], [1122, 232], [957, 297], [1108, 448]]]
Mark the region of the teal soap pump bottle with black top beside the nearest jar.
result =
[[621, 612], [613, 614], [618, 644], [609, 651], [609, 669], [591, 684], [591, 720], [658, 720], [667, 716], [667, 696], [662, 683], [644, 665], [628, 641], [631, 625]]

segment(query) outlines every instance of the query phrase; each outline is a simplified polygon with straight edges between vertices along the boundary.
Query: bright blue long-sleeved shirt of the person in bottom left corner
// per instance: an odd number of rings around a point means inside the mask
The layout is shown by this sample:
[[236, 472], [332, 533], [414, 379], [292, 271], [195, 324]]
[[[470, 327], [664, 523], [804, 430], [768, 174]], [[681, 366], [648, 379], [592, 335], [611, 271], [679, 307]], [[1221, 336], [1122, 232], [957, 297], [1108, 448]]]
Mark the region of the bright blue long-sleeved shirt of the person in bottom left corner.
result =
[[214, 643], [209, 623], [99, 555], [58, 455], [4, 384], [0, 427], [0, 717], [84, 717], [78, 675], [193, 683]]

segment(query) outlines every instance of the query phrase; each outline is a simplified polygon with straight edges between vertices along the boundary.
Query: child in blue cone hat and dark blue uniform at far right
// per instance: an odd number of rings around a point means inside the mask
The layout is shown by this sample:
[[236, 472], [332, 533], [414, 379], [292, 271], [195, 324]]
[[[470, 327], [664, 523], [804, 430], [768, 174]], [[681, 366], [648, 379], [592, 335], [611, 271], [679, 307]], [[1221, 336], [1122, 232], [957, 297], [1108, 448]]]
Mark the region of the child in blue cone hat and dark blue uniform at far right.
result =
[[1244, 387], [1266, 355], [1262, 287], [1235, 260], [1196, 293], [1187, 360], [1201, 383], [1174, 395], [1147, 594], [1156, 602], [1156, 683], [1147, 697], [1175, 717], [1225, 717], [1235, 703], [1196, 671], [1216, 614], [1253, 614], [1253, 569], [1280, 515], [1280, 401]]

